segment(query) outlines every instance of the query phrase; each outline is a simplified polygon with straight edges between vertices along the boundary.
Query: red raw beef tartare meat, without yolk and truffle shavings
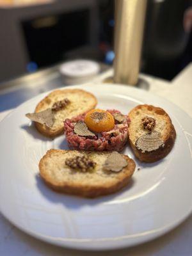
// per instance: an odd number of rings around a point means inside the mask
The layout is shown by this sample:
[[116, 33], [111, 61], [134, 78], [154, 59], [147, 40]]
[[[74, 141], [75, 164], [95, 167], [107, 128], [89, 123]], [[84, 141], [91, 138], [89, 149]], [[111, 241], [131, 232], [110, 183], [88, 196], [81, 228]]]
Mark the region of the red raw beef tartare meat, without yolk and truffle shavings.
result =
[[[107, 110], [111, 115], [120, 114], [120, 111], [115, 109]], [[130, 123], [129, 116], [122, 115], [122, 122], [116, 122], [111, 131], [94, 133], [93, 136], [79, 136], [74, 132], [74, 127], [77, 122], [84, 122], [84, 115], [76, 118], [66, 119], [64, 122], [65, 136], [68, 142], [68, 147], [74, 150], [96, 150], [96, 151], [118, 151], [120, 152], [128, 138], [128, 125]]]

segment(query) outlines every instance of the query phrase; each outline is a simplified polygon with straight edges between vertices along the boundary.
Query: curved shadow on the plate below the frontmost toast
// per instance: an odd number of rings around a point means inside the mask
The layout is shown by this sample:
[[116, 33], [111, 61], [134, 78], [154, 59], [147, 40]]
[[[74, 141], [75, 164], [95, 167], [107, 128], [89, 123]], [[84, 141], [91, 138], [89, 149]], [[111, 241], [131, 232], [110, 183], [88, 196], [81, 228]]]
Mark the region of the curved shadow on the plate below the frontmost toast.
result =
[[40, 175], [36, 175], [36, 186], [40, 193], [42, 193], [42, 195], [53, 204], [63, 204], [69, 209], [79, 209], [79, 207], [83, 207], [85, 205], [93, 206], [108, 203], [128, 189], [131, 189], [134, 184], [135, 180], [132, 178], [124, 189], [112, 195], [100, 196], [99, 198], [83, 198], [80, 196], [67, 195], [65, 193], [53, 191], [51, 188], [47, 187]]

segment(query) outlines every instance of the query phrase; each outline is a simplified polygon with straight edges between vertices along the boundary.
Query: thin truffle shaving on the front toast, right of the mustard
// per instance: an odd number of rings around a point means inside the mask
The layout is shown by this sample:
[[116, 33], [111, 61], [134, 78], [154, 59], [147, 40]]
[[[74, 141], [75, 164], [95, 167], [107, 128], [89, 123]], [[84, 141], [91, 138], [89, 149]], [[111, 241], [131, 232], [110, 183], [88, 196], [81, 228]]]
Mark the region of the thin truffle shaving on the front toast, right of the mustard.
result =
[[104, 169], [111, 172], [120, 172], [125, 166], [127, 166], [127, 161], [118, 152], [112, 152], [104, 163]]

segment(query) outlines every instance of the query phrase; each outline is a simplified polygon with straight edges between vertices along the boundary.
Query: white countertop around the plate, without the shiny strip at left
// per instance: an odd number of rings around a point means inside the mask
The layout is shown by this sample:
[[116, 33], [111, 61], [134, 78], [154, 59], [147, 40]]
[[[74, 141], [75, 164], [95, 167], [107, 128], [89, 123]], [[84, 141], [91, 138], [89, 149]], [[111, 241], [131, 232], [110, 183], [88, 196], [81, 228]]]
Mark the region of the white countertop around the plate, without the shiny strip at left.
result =
[[[110, 76], [112, 70], [95, 82]], [[149, 92], [156, 93], [180, 106], [192, 117], [192, 64], [185, 68], [172, 83], [149, 76], [141, 76], [149, 84]], [[0, 113], [0, 120], [10, 111]], [[191, 127], [192, 134], [192, 127]], [[191, 195], [192, 196], [192, 195]], [[110, 252], [81, 252], [46, 244], [28, 236], [6, 221], [0, 214], [0, 255], [2, 256], [191, 256], [192, 216], [163, 237], [133, 248]]]

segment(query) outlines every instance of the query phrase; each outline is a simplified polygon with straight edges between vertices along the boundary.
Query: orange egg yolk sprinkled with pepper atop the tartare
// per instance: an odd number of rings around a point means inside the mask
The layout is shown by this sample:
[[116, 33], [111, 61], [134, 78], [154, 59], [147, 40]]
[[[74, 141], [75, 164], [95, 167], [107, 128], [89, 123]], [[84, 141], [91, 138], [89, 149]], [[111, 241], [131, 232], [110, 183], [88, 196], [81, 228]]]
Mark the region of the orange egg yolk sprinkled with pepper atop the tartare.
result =
[[113, 115], [102, 109], [89, 111], [84, 118], [84, 122], [93, 132], [107, 132], [115, 126]]

